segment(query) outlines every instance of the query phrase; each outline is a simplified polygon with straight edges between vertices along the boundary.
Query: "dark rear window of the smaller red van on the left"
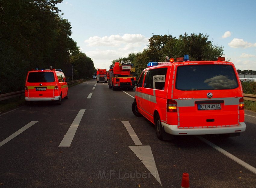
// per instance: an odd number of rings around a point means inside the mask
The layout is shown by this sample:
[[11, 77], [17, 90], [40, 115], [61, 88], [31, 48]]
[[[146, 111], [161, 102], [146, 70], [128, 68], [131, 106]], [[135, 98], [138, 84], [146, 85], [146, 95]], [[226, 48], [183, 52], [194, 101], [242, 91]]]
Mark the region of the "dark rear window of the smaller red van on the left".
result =
[[54, 82], [53, 72], [30, 72], [28, 75], [28, 82]]

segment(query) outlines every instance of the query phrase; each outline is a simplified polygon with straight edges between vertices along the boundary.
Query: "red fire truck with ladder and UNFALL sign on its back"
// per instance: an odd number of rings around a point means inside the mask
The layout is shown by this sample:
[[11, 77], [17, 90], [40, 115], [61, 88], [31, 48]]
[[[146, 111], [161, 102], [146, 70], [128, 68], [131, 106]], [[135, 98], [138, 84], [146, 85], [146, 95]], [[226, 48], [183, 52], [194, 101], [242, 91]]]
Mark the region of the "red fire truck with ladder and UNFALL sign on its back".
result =
[[131, 74], [132, 63], [130, 60], [123, 62], [115, 62], [115, 64], [110, 65], [108, 74], [108, 87], [113, 90], [118, 88], [127, 88], [133, 90], [134, 85], [132, 81], [136, 80], [136, 77]]

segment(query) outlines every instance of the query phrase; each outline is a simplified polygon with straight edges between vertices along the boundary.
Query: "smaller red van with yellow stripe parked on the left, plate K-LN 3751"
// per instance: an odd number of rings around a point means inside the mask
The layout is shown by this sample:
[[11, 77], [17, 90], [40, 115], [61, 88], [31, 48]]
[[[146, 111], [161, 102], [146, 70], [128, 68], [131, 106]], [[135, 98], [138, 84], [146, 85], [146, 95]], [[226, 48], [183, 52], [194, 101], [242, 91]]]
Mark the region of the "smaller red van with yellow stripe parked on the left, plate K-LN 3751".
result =
[[63, 72], [55, 69], [29, 71], [25, 83], [25, 101], [55, 101], [68, 99], [68, 86]]

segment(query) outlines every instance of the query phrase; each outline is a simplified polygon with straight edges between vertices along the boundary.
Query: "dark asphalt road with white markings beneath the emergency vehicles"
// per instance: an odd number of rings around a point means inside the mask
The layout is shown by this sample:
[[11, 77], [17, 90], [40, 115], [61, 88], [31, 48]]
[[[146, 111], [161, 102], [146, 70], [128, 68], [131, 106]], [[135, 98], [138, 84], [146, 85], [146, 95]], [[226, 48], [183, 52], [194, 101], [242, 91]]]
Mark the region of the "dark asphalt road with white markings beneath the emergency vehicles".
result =
[[89, 80], [1, 114], [1, 187], [180, 187], [184, 172], [190, 187], [256, 187], [256, 113], [239, 137], [160, 141], [134, 95]]

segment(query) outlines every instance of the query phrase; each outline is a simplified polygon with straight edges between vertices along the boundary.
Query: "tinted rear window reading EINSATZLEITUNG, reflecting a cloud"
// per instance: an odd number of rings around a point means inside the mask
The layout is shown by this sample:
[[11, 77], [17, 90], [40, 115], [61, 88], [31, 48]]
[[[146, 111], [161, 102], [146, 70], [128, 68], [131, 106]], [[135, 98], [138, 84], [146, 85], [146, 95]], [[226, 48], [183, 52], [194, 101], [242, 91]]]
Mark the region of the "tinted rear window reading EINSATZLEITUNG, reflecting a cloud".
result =
[[183, 65], [177, 68], [176, 89], [188, 91], [237, 87], [232, 65]]

